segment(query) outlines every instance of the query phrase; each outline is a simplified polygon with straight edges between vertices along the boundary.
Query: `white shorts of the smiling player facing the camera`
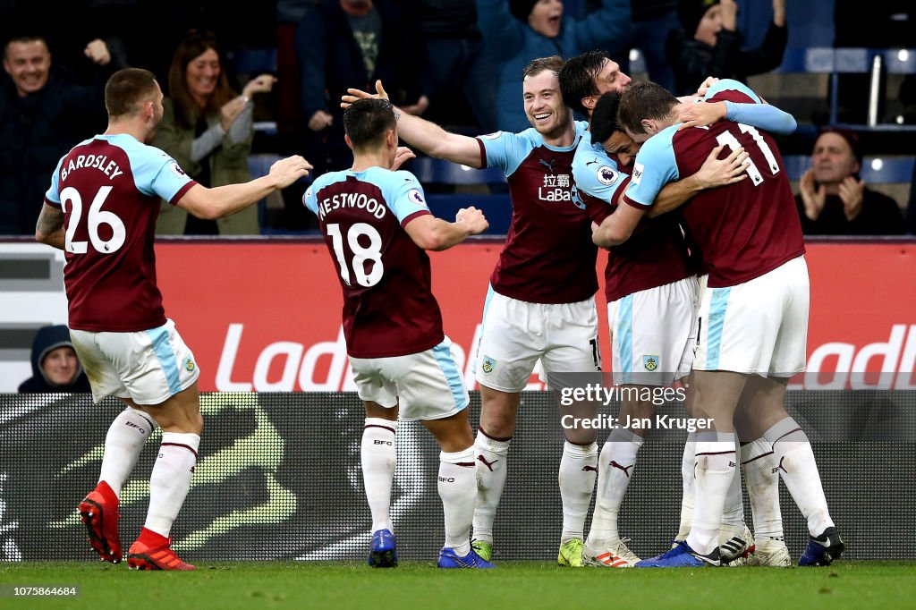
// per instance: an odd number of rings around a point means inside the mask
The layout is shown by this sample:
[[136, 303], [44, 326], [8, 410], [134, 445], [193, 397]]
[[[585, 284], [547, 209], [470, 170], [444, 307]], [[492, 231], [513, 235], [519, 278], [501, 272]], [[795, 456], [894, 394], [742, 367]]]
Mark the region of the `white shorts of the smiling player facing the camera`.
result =
[[554, 373], [601, 370], [594, 297], [575, 303], [529, 303], [490, 287], [474, 363], [477, 383], [520, 392], [539, 358], [547, 379]]

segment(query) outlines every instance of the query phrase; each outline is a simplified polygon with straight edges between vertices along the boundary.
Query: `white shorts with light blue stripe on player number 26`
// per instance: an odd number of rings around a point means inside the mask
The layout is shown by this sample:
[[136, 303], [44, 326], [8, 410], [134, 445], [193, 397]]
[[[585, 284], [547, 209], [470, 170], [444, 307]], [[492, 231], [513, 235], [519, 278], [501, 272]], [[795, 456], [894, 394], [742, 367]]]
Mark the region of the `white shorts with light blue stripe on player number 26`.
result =
[[191, 387], [201, 371], [191, 349], [168, 320], [137, 332], [70, 332], [73, 347], [93, 388], [93, 401], [132, 398], [158, 405]]

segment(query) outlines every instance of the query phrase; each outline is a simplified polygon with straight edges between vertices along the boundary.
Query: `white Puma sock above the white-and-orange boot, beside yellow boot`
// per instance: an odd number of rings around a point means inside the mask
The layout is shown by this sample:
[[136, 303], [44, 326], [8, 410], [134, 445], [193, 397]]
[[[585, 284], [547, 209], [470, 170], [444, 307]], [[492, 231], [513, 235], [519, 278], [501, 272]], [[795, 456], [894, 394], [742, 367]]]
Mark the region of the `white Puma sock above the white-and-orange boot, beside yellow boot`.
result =
[[600, 547], [620, 539], [617, 515], [633, 476], [636, 456], [643, 440], [630, 430], [617, 428], [607, 437], [598, 462], [598, 496], [594, 502], [588, 544]]

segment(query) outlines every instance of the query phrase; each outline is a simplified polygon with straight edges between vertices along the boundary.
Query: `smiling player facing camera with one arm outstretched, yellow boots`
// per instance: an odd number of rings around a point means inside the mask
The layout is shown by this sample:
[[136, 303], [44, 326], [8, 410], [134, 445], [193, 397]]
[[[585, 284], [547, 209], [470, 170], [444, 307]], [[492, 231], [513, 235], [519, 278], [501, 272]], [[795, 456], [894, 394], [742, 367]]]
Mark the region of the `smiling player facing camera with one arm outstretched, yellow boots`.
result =
[[[431, 157], [472, 168], [496, 168], [507, 177], [512, 223], [490, 278], [475, 374], [482, 402], [474, 441], [479, 496], [474, 548], [493, 552], [496, 507], [506, 484], [509, 443], [515, 433], [520, 392], [540, 360], [551, 387], [557, 374], [600, 370], [598, 312], [594, 293], [597, 250], [591, 221], [572, 201], [572, 164], [585, 124], [563, 103], [559, 57], [531, 60], [523, 73], [530, 129], [468, 137], [450, 134], [417, 116], [401, 114], [398, 129], [411, 146]], [[381, 83], [377, 95], [384, 96]], [[344, 103], [369, 93], [350, 90]], [[577, 404], [594, 417], [596, 404]], [[594, 491], [598, 460], [595, 430], [563, 430], [560, 496], [563, 525], [557, 561], [582, 567], [583, 529]]]

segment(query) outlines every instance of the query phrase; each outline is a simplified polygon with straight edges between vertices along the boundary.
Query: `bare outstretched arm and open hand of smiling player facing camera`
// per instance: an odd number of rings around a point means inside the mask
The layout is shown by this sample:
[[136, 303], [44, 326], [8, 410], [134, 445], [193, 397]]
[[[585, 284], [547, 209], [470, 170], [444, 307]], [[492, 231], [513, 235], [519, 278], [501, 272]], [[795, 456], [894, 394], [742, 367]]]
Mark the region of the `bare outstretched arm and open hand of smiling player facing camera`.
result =
[[[381, 81], [376, 81], [376, 93], [367, 93], [359, 89], [347, 89], [347, 93], [341, 97], [341, 108], [344, 109], [356, 100], [367, 97], [388, 99]], [[444, 158], [476, 169], [482, 167], [480, 145], [474, 137], [449, 133], [431, 121], [398, 108], [395, 108], [395, 116], [398, 119], [398, 136], [411, 147], [419, 148], [430, 157]]]

